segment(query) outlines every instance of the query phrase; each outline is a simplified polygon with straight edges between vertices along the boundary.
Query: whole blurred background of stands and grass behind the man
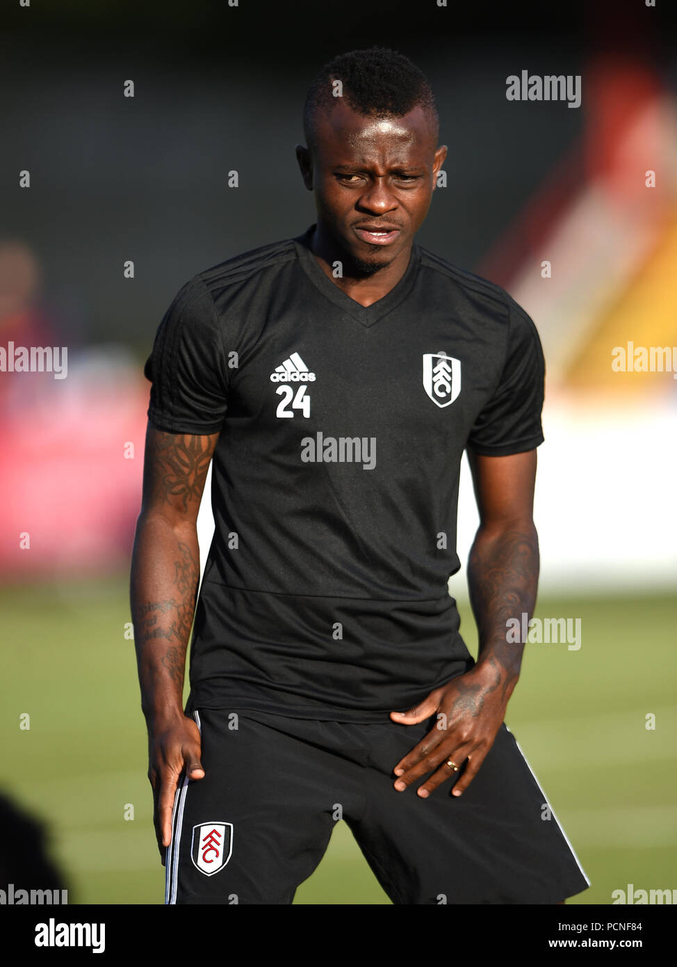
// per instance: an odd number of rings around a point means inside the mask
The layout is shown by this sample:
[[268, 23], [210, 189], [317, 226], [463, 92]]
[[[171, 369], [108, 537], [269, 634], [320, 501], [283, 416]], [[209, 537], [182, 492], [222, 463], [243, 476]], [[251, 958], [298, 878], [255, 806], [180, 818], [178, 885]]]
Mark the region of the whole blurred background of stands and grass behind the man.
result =
[[[314, 220], [294, 154], [305, 91], [372, 44], [437, 95], [447, 184], [419, 242], [503, 285], [546, 354], [536, 615], [580, 619], [581, 639], [527, 645], [506, 721], [592, 881], [572, 902], [677, 888], [675, 17], [552, 6], [3, 12], [0, 791], [42, 826], [70, 902], [164, 895], [128, 610], [143, 363], [184, 281]], [[508, 101], [522, 71], [580, 75], [580, 106]], [[52, 365], [20, 371], [31, 346], [56, 347]], [[463, 561], [476, 526], [464, 465]], [[450, 588], [474, 650], [465, 571]], [[48, 886], [13, 872], [14, 829], [4, 879]], [[344, 823], [296, 902], [388, 902]]]

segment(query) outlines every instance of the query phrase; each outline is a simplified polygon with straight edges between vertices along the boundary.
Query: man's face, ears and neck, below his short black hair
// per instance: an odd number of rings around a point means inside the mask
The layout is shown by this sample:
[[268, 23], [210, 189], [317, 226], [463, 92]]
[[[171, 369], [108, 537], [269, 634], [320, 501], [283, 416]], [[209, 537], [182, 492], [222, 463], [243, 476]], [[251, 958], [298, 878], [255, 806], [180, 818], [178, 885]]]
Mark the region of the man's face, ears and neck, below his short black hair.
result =
[[[305, 187], [314, 191], [317, 230], [311, 246], [328, 278], [360, 306], [378, 302], [409, 265], [446, 147], [421, 107], [401, 118], [370, 118], [337, 99], [316, 119], [316, 148], [296, 145]], [[392, 230], [386, 244], [360, 232]], [[340, 261], [343, 278], [333, 264]]]

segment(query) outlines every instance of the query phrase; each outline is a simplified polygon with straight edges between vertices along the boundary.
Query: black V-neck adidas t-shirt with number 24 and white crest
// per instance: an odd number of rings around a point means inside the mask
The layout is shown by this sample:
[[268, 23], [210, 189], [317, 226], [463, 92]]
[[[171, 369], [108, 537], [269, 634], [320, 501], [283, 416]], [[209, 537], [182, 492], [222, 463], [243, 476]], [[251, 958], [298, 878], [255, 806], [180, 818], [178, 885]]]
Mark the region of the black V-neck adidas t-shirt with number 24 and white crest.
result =
[[545, 366], [499, 286], [414, 245], [365, 308], [314, 227], [183, 285], [148, 416], [220, 431], [189, 707], [372, 721], [472, 664], [447, 588], [461, 457], [543, 442]]

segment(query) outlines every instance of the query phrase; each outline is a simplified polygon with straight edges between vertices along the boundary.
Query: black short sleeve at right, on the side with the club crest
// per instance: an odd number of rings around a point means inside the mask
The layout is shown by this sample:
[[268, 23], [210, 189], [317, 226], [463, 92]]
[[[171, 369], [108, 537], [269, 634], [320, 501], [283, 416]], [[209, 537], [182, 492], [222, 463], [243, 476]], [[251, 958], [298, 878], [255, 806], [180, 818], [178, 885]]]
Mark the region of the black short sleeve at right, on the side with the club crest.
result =
[[510, 301], [505, 363], [494, 395], [477, 417], [466, 446], [486, 456], [508, 456], [543, 443], [541, 414], [546, 364], [529, 315]]

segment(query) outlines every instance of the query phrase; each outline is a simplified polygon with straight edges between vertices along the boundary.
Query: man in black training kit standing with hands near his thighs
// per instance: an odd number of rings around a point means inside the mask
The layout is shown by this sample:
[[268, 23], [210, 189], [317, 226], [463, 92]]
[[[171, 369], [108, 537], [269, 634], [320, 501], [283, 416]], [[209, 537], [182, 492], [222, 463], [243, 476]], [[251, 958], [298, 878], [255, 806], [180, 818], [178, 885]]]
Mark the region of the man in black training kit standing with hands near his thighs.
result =
[[[155, 337], [131, 604], [168, 903], [291, 903], [341, 816], [394, 903], [588, 885], [503, 723], [543, 355], [507, 293], [413, 244], [437, 125], [407, 58], [332, 61], [296, 148], [317, 224], [192, 278]], [[465, 449], [477, 662], [447, 589]]]

